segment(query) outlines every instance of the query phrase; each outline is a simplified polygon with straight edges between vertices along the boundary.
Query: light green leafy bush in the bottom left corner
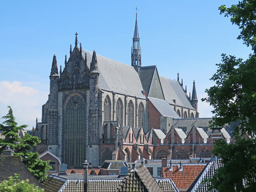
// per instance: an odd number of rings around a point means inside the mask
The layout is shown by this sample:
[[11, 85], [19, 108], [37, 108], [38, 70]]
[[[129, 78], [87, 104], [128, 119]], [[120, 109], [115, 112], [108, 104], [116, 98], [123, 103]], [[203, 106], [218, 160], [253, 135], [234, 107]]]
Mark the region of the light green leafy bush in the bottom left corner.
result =
[[43, 192], [44, 189], [40, 189], [34, 184], [30, 184], [29, 180], [19, 180], [19, 175], [15, 174], [14, 177], [9, 177], [9, 180], [4, 180], [0, 183], [0, 192]]

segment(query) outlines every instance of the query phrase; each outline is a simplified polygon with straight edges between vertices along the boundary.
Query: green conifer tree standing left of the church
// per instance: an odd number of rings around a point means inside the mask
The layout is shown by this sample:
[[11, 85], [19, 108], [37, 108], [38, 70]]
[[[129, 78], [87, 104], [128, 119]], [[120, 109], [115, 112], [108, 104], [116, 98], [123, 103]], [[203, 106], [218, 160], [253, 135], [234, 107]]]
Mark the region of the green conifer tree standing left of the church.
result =
[[51, 166], [48, 165], [48, 161], [42, 161], [39, 158], [39, 154], [31, 152], [33, 148], [41, 141], [38, 137], [32, 137], [28, 133], [24, 138], [18, 137], [19, 131], [23, 130], [27, 125], [17, 126], [13, 112], [10, 106], [8, 106], [9, 112], [6, 116], [2, 117], [6, 119], [3, 124], [0, 124], [0, 131], [5, 136], [4, 139], [0, 139], [0, 153], [7, 145], [10, 145], [14, 150], [14, 155], [19, 155], [23, 163], [27, 166], [30, 172], [35, 176], [38, 181], [46, 179], [46, 174]]

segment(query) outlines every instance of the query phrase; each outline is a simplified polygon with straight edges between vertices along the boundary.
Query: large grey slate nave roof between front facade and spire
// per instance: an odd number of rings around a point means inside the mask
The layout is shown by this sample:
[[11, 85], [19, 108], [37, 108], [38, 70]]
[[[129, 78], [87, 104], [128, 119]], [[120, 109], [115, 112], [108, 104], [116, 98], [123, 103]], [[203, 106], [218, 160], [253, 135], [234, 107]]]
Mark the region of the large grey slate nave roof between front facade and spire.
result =
[[[86, 53], [89, 66], [93, 53], [82, 50], [82, 56]], [[145, 98], [139, 75], [134, 67], [100, 55], [97, 55], [97, 62], [100, 89]]]

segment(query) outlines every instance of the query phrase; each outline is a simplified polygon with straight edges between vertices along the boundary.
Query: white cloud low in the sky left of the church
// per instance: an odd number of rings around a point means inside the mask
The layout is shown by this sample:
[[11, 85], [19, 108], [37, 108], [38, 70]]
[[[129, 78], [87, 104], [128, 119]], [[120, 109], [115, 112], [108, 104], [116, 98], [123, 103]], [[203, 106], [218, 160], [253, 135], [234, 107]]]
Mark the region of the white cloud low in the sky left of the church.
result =
[[[47, 101], [48, 93], [31, 87], [22, 86], [21, 82], [0, 82], [0, 117], [8, 113], [10, 105], [18, 125], [27, 124], [32, 129], [36, 117], [41, 119], [41, 105]], [[2, 120], [2, 121], [1, 121]], [[4, 121], [1, 119], [0, 123]]]

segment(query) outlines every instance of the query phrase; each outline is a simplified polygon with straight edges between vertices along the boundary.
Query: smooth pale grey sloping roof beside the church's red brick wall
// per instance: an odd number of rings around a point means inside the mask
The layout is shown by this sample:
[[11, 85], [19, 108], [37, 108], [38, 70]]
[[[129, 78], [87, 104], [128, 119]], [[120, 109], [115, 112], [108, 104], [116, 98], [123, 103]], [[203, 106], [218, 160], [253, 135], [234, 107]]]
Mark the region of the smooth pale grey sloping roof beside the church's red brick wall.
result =
[[179, 118], [179, 115], [174, 111], [172, 106], [170, 106], [167, 101], [153, 97], [147, 98], [152, 102], [152, 104], [156, 107], [156, 109], [159, 111], [159, 113], [161, 113], [162, 116]]

